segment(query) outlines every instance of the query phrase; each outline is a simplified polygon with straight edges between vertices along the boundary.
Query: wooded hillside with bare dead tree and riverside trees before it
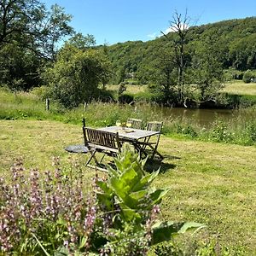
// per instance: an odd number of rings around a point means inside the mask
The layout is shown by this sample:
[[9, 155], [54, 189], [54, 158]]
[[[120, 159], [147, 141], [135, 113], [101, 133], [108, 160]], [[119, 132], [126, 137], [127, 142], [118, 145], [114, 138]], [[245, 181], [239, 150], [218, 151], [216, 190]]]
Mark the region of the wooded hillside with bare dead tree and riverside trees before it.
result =
[[160, 93], [160, 102], [167, 105], [218, 106], [224, 69], [244, 72], [255, 68], [255, 24], [255, 18], [247, 18], [189, 26], [188, 17], [176, 13], [172, 20], [176, 31], [145, 43], [108, 47], [116, 73], [112, 81], [135, 77], [139, 83], [149, 84], [154, 94]]

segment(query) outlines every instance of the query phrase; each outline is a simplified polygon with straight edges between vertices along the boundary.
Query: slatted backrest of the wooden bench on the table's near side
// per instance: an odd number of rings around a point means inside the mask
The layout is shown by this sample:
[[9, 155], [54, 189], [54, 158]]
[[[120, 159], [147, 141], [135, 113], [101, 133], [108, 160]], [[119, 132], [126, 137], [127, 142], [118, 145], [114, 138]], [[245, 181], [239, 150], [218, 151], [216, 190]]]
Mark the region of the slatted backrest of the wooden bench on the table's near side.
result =
[[[84, 131], [84, 144], [86, 147], [100, 146], [102, 149], [120, 150], [119, 134], [118, 132], [112, 133], [108, 131], [100, 131], [83, 126]], [[99, 148], [99, 147], [98, 147]]]

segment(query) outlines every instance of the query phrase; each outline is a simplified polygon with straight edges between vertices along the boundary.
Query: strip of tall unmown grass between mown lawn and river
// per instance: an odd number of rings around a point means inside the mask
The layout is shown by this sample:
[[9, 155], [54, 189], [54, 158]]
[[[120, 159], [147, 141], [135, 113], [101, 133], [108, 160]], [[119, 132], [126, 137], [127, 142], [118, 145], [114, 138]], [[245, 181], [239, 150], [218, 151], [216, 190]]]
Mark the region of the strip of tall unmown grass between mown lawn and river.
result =
[[[208, 120], [207, 125], [201, 125], [195, 114], [188, 118], [185, 114], [176, 114], [176, 108], [172, 111], [172, 108], [160, 108], [145, 102], [134, 106], [114, 102], [91, 102], [85, 108], [79, 106], [72, 110], [61, 108], [55, 102], [49, 102], [49, 110], [46, 110], [45, 102], [32, 93], [13, 94], [0, 90], [0, 98], [0, 119], [57, 120], [81, 125], [81, 120], [84, 118], [86, 125], [100, 127], [114, 125], [117, 119], [126, 121], [132, 117], [143, 119], [144, 126], [148, 121], [163, 121], [162, 132], [169, 137], [240, 145], [256, 144], [255, 107], [240, 109], [241, 114], [231, 115], [230, 119], [222, 119], [214, 113], [212, 121]], [[191, 112], [191, 110], [184, 111]]]

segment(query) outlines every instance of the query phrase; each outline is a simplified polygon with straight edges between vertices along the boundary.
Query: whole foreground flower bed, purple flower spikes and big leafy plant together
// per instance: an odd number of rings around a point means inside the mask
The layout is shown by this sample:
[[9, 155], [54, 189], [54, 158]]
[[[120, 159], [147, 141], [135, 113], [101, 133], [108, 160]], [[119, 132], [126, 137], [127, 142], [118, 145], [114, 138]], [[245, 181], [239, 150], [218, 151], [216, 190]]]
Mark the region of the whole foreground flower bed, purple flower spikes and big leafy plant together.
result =
[[33, 169], [27, 179], [22, 162], [17, 161], [10, 183], [0, 179], [1, 252], [146, 255], [149, 247], [202, 227], [157, 221], [159, 203], [168, 189], [151, 186], [159, 171], [146, 173], [145, 160], [139, 160], [129, 144], [114, 162], [116, 168], [109, 166], [108, 179], [96, 177], [94, 190], [84, 195], [80, 169], [62, 170], [55, 159], [54, 173], [40, 177]]

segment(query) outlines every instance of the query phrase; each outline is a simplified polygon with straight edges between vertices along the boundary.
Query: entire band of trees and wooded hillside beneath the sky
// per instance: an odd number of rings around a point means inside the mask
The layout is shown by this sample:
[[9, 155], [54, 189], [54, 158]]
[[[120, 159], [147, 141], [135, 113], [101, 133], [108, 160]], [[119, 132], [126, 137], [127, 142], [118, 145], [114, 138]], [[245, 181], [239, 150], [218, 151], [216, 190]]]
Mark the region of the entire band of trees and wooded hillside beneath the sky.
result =
[[[0, 9], [0, 83], [11, 90], [45, 84], [66, 108], [99, 97], [112, 101], [106, 84], [129, 78], [148, 84], [150, 102], [218, 107], [224, 69], [241, 71], [247, 83], [254, 78], [255, 18], [190, 26], [187, 14], [176, 13], [170, 23], [176, 29], [153, 41], [96, 47], [92, 35], [73, 32], [71, 15], [58, 5], [47, 10], [38, 0], [4, 1]], [[57, 49], [67, 36], [73, 37]], [[132, 101], [119, 94], [119, 102]]]

